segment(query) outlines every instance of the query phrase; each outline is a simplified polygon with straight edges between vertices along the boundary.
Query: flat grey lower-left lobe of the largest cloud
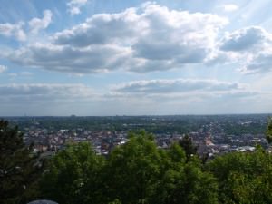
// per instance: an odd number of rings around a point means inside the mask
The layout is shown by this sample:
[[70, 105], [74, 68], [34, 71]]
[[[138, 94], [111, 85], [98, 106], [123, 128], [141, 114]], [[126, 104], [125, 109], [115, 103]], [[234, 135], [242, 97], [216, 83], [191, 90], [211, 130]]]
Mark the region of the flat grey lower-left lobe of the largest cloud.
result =
[[65, 73], [107, 72], [124, 66], [130, 49], [117, 45], [75, 48], [69, 45], [33, 44], [17, 50], [10, 60], [23, 65]]

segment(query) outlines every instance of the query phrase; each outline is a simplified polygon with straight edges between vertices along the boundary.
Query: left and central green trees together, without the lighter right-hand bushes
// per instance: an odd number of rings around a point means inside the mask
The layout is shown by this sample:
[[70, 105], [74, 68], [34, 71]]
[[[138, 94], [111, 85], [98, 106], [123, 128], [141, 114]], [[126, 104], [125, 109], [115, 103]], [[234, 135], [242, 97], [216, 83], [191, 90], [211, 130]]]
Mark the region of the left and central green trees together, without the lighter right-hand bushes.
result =
[[217, 182], [202, 172], [201, 162], [186, 162], [178, 144], [158, 149], [145, 131], [131, 133], [106, 160], [89, 143], [67, 147], [50, 162], [41, 184], [44, 198], [66, 204], [217, 203]]

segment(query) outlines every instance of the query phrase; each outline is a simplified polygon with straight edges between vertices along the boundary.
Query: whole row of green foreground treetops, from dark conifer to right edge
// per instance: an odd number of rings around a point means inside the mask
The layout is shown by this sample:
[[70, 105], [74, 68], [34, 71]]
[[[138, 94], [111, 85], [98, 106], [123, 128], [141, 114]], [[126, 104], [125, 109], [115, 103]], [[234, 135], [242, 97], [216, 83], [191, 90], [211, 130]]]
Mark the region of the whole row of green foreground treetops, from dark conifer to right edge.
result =
[[195, 151], [189, 137], [158, 149], [145, 131], [105, 159], [89, 143], [71, 145], [51, 160], [42, 192], [66, 204], [272, 203], [272, 156], [261, 147], [205, 164]]

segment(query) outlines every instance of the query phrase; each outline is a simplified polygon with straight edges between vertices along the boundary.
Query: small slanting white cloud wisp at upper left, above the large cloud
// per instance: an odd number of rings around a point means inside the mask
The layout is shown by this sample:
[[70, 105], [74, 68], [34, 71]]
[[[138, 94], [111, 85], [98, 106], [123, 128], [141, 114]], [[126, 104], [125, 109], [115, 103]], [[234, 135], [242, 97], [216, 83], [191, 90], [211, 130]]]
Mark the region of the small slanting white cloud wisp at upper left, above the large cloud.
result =
[[37, 34], [40, 30], [43, 30], [48, 27], [51, 23], [52, 12], [50, 10], [44, 10], [43, 18], [33, 18], [28, 22], [30, 27], [30, 32], [32, 34]]

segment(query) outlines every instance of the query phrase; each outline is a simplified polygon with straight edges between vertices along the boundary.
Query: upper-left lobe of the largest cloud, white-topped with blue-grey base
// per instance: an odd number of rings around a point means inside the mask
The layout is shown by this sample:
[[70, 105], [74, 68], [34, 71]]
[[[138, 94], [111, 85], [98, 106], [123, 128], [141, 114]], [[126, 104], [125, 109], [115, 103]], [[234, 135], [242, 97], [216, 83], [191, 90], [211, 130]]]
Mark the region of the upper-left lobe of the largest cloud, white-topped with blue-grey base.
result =
[[[85, 23], [73, 26], [53, 36], [54, 44], [69, 44], [84, 47], [91, 44], [130, 43], [141, 34], [140, 16], [136, 9], [127, 9], [119, 14], [93, 15]], [[121, 41], [122, 40], [122, 41]]]

